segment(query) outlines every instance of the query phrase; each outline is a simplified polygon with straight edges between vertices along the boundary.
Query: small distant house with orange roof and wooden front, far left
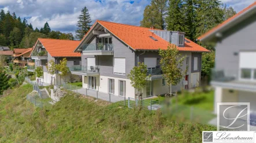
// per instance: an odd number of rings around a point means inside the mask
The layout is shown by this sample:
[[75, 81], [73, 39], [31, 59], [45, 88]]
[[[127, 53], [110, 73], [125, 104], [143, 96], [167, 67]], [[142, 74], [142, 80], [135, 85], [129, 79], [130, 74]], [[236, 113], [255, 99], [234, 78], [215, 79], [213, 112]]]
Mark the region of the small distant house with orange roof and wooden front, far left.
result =
[[18, 49], [14, 48], [13, 50], [13, 63], [19, 65], [27, 65], [30, 59], [29, 55], [31, 54], [32, 48], [27, 49]]

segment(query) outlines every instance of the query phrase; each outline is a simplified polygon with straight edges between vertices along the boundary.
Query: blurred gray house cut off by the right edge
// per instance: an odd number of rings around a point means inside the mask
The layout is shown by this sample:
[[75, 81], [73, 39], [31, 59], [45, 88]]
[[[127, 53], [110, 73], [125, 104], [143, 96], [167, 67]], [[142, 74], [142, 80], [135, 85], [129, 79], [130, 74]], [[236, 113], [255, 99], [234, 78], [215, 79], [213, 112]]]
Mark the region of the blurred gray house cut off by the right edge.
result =
[[214, 111], [217, 102], [250, 102], [256, 111], [256, 2], [198, 39], [216, 44]]

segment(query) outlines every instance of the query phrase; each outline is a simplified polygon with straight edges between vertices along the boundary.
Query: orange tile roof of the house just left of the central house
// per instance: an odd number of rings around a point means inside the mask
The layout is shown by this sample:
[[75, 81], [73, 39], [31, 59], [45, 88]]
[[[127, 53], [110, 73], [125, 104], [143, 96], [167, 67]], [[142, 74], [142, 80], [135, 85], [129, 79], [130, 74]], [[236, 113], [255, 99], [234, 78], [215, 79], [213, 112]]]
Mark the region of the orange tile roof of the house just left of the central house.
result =
[[46, 48], [46, 51], [50, 53], [52, 57], [80, 57], [80, 53], [74, 53], [73, 51], [80, 43], [75, 40], [59, 40], [50, 38], [38, 38], [42, 45]]

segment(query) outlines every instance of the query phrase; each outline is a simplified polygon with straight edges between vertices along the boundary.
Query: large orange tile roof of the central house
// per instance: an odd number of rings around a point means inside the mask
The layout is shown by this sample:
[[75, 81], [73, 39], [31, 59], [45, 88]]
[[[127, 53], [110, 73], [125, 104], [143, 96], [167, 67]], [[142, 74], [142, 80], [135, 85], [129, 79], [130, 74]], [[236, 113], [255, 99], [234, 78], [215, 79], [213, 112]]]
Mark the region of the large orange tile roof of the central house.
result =
[[[143, 28], [140, 26], [132, 26], [125, 24], [117, 24], [107, 21], [96, 21], [109, 30], [114, 36], [120, 38], [129, 47], [133, 49], [146, 49], [146, 50], [158, 50], [167, 49], [170, 44], [168, 41], [157, 36], [153, 32], [150, 32], [150, 28]], [[96, 23], [95, 22], [95, 23]], [[94, 24], [95, 25], [95, 24]], [[88, 33], [88, 32], [87, 32]], [[149, 36], [154, 37], [157, 41], [152, 40]], [[86, 36], [85, 36], [86, 37]], [[186, 40], [188, 40], [186, 38]], [[209, 50], [201, 47], [200, 45], [188, 40], [185, 42], [185, 47], [177, 47], [179, 51], [194, 51], [194, 52], [210, 52]]]

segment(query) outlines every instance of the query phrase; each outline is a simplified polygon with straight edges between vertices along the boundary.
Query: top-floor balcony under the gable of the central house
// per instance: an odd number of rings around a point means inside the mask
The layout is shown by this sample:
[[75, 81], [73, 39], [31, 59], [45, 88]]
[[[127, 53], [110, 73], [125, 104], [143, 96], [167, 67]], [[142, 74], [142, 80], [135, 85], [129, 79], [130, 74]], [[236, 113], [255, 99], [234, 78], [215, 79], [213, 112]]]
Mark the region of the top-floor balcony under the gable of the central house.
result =
[[114, 55], [113, 44], [83, 44], [83, 55]]

